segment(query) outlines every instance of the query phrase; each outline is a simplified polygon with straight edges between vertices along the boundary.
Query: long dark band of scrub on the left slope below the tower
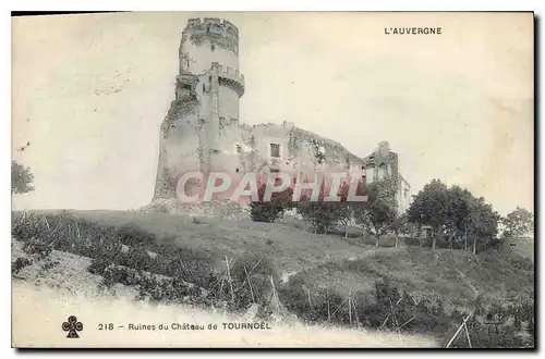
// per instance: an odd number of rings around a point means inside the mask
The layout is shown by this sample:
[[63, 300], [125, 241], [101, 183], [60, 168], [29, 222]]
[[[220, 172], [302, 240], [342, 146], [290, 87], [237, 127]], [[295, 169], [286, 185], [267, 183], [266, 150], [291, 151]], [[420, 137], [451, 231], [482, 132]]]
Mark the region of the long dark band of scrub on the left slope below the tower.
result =
[[[159, 245], [154, 234], [135, 224], [117, 227], [70, 213], [14, 212], [12, 220], [13, 236], [24, 243], [26, 252], [46, 257], [58, 249], [88, 257], [93, 259], [88, 271], [94, 274], [102, 274], [107, 267], [120, 264], [180, 277], [203, 287], [215, 281], [209, 253]], [[126, 252], [122, 250], [123, 245], [129, 246]], [[157, 256], [153, 258], [148, 250], [155, 250]]]

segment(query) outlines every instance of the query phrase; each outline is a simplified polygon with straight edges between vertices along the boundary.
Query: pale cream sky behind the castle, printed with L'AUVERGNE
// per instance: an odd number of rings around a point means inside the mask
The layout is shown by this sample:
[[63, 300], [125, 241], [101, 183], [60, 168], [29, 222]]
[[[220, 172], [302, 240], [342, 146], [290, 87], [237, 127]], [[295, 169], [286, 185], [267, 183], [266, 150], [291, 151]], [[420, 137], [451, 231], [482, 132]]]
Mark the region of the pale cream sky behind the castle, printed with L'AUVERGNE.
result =
[[181, 33], [205, 16], [239, 27], [242, 123], [292, 121], [361, 157], [387, 140], [413, 194], [440, 178], [533, 210], [532, 14], [361, 12], [12, 17], [12, 157], [36, 188], [14, 209], [149, 203]]

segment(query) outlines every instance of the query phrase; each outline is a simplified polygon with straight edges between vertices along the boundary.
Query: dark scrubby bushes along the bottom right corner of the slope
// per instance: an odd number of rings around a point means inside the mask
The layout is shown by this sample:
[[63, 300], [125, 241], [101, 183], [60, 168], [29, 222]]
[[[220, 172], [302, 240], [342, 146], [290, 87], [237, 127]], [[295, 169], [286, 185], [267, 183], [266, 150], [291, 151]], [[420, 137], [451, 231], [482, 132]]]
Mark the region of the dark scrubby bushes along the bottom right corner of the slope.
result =
[[[308, 289], [311, 289], [308, 292]], [[308, 297], [308, 294], [311, 296]], [[407, 292], [399, 292], [388, 281], [377, 281], [373, 300], [364, 294], [353, 294], [349, 310], [347, 296], [331, 289], [315, 289], [302, 277], [293, 277], [279, 290], [286, 308], [300, 320], [310, 323], [334, 323], [343, 326], [363, 325], [370, 329], [389, 329], [408, 333], [421, 333], [438, 337], [445, 346], [469, 312], [447, 312], [438, 298], [414, 300]], [[500, 329], [491, 331], [483, 323], [489, 313], [501, 313], [506, 321]], [[352, 317], [352, 320], [350, 320]], [[522, 301], [504, 308], [492, 306], [488, 312], [473, 317], [468, 322], [472, 347], [508, 348], [532, 347], [534, 343], [533, 302]], [[511, 318], [509, 321], [508, 318]], [[510, 322], [514, 324], [508, 324]], [[517, 324], [518, 323], [518, 324]], [[524, 323], [524, 324], [523, 324]], [[451, 347], [469, 347], [465, 335]]]

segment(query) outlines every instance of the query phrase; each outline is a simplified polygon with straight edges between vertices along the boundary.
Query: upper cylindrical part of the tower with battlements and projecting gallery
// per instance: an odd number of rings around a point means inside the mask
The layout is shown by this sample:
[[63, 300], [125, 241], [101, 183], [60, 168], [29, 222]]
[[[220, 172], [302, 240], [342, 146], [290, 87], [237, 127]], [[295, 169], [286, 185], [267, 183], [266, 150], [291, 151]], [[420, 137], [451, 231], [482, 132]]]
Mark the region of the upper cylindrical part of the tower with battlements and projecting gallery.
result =
[[209, 106], [217, 107], [217, 113], [213, 113], [217, 121], [238, 121], [244, 76], [239, 72], [237, 26], [217, 17], [190, 18], [180, 44], [183, 75], [198, 76], [197, 91], [211, 95]]

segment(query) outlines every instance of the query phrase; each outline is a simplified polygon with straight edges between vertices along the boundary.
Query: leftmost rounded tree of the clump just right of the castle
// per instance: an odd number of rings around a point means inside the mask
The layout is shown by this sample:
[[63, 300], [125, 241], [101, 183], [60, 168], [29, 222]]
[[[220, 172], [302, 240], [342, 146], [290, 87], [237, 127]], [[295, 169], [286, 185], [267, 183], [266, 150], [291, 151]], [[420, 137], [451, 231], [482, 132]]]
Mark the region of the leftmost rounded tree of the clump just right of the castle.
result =
[[448, 190], [440, 180], [432, 180], [416, 195], [407, 214], [409, 221], [421, 225], [429, 225], [433, 233], [433, 245], [435, 249], [437, 236], [448, 218]]

